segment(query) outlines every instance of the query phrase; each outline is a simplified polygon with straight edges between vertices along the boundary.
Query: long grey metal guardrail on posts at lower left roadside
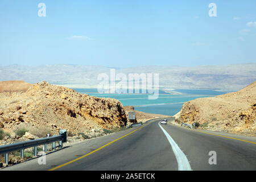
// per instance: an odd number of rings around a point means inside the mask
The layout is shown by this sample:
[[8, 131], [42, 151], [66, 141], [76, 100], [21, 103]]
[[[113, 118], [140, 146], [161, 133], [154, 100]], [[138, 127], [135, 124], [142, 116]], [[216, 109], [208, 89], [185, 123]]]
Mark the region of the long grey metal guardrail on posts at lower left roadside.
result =
[[[58, 146], [56, 146], [56, 141], [59, 141]], [[63, 142], [67, 142], [67, 130], [60, 130], [59, 135], [53, 137], [40, 138], [36, 140], [0, 146], [0, 155], [5, 154], [5, 163], [8, 164], [9, 152], [20, 151], [20, 157], [24, 158], [24, 149], [34, 147], [34, 156], [36, 156], [38, 153], [37, 146], [44, 145], [44, 152], [47, 152], [47, 144], [52, 143], [52, 149], [56, 149], [56, 147], [62, 148]]]

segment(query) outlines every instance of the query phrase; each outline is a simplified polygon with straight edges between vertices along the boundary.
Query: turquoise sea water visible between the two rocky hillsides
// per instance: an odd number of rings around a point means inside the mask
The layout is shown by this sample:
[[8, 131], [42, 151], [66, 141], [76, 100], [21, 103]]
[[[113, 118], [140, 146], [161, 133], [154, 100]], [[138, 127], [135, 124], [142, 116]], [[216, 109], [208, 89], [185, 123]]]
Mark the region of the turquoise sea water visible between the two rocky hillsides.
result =
[[[170, 94], [159, 90], [159, 96], [156, 100], [148, 100], [149, 94], [101, 94], [97, 89], [74, 89], [79, 93], [86, 93], [90, 96], [115, 98], [123, 106], [134, 106], [135, 110], [145, 113], [175, 115], [180, 111], [184, 102], [195, 100], [202, 97], [213, 97], [229, 91], [202, 90], [202, 89], [176, 89], [175, 92], [181, 94]], [[235, 90], [232, 90], [234, 92]], [[231, 92], [231, 91], [230, 91]]]

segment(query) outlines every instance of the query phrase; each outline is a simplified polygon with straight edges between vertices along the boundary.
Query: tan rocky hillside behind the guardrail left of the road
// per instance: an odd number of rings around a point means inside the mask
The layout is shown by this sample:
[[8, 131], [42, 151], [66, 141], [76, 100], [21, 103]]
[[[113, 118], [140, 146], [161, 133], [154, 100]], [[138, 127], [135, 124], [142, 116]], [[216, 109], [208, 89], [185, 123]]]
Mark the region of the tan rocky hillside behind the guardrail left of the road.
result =
[[[121, 102], [97, 98], [42, 81], [27, 92], [0, 93], [0, 129], [13, 134], [28, 129], [34, 135], [90, 133], [125, 126]], [[44, 136], [45, 137], [45, 136]]]

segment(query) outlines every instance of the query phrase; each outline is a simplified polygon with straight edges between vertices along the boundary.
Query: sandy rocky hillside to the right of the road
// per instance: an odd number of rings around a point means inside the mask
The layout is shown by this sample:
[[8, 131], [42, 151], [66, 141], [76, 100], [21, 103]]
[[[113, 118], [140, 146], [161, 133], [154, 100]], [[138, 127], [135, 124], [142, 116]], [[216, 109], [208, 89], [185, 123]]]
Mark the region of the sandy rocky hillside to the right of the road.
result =
[[256, 81], [238, 92], [185, 102], [176, 122], [199, 122], [202, 129], [256, 136]]

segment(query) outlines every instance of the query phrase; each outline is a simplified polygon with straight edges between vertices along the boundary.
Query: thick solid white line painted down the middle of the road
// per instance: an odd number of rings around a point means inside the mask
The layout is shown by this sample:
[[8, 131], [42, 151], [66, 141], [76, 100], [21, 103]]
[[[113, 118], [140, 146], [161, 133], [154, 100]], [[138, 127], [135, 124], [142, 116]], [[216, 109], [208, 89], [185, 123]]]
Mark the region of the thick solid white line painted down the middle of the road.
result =
[[179, 146], [177, 146], [174, 139], [172, 139], [171, 136], [167, 133], [167, 131], [163, 129], [163, 127], [160, 125], [160, 122], [158, 123], [158, 125], [160, 126], [160, 129], [163, 130], [163, 133], [166, 135], [168, 141], [171, 144], [172, 151], [174, 151], [174, 155], [176, 156], [176, 159], [177, 159], [178, 170], [179, 171], [192, 171], [187, 157], [180, 150]]

